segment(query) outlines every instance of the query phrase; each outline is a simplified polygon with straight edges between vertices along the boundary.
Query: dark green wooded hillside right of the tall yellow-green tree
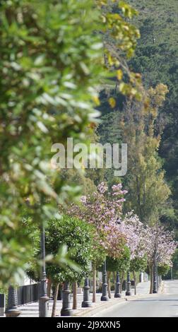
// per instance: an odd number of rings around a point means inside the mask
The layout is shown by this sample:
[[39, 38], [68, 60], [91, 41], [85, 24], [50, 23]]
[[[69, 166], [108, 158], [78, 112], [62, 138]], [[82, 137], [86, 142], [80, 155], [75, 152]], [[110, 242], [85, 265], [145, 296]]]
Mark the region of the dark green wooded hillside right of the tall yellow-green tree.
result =
[[172, 186], [172, 199], [177, 210], [177, 161], [178, 161], [178, 49], [177, 49], [177, 1], [129, 1], [138, 9], [136, 20], [141, 39], [136, 55], [131, 60], [135, 71], [142, 73], [146, 87], [157, 83], [167, 85], [169, 93], [160, 109], [164, 117], [164, 131], [160, 145], [160, 156], [165, 160], [167, 180]]

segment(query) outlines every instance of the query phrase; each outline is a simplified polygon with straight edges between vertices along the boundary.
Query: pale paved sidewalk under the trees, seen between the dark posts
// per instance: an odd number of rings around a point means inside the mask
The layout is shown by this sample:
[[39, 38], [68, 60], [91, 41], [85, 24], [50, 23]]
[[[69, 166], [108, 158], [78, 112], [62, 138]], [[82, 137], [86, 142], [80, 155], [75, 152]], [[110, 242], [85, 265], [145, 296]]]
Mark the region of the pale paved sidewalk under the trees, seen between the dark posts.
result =
[[[137, 285], [137, 295], [145, 295], [149, 293], [149, 282], [145, 283], [138, 283]], [[133, 288], [131, 289], [132, 295], [134, 294]], [[136, 296], [137, 296], [136, 295]], [[81, 308], [81, 302], [83, 301], [83, 294], [78, 294], [78, 309], [73, 310], [73, 316], [93, 316], [95, 315], [98, 310], [106, 309], [107, 307], [111, 307], [114, 304], [117, 304], [118, 302], [123, 302], [126, 300], [125, 292], [122, 292], [121, 299], [115, 299], [114, 298], [114, 292], [112, 292], [112, 299], [108, 302], [102, 302], [100, 301], [101, 293], [97, 293], [96, 303], [93, 303], [93, 306], [90, 308]], [[92, 300], [92, 293], [90, 293], [90, 300]], [[53, 301], [49, 300], [49, 317], [52, 314], [52, 304]], [[72, 297], [71, 297], [71, 305], [72, 305]], [[62, 302], [57, 301], [57, 316], [60, 316], [62, 307]], [[38, 302], [33, 302], [29, 304], [25, 304], [23, 306], [19, 307], [21, 314], [19, 317], [38, 317]]]

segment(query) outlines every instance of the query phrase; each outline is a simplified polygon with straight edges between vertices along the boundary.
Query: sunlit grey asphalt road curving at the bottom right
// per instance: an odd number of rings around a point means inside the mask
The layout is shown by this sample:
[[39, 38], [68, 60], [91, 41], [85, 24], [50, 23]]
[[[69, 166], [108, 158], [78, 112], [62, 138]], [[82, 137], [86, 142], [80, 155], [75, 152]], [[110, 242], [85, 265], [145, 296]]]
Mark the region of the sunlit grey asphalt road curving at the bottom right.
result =
[[163, 294], [146, 295], [97, 314], [97, 317], [178, 317], [178, 280], [164, 283]]

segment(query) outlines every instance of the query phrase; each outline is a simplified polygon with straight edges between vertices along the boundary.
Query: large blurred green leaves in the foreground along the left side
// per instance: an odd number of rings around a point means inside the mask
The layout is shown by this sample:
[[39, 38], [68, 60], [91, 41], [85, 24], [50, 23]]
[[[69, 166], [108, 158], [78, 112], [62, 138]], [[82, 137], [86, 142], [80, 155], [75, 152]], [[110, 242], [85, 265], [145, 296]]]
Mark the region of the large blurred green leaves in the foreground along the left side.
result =
[[[90, 125], [95, 124], [96, 91], [107, 76], [100, 32], [112, 30], [124, 57], [136, 47], [139, 32], [127, 22], [136, 12], [119, 1], [118, 18], [101, 11], [105, 4], [1, 0], [0, 282], [4, 285], [16, 281], [32, 256], [30, 236], [21, 236], [22, 210], [27, 208], [41, 226], [57, 218], [57, 203], [78, 194], [50, 164], [51, 147], [66, 145], [67, 137], [73, 143], [86, 142]], [[110, 68], [119, 66], [109, 48], [105, 51]], [[133, 73], [129, 77], [139, 85]], [[121, 69], [118, 81], [123, 93], [137, 93], [131, 82], [129, 87], [122, 84]]]

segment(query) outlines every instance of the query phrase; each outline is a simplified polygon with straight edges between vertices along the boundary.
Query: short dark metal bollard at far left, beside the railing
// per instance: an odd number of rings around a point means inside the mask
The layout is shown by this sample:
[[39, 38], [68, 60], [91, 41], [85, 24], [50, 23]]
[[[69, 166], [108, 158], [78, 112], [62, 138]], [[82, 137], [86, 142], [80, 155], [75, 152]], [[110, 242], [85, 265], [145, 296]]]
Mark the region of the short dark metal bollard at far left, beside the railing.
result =
[[20, 310], [17, 307], [17, 289], [13, 286], [8, 287], [8, 306], [6, 309], [6, 317], [18, 317]]

